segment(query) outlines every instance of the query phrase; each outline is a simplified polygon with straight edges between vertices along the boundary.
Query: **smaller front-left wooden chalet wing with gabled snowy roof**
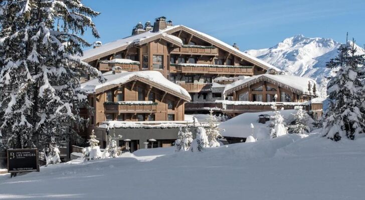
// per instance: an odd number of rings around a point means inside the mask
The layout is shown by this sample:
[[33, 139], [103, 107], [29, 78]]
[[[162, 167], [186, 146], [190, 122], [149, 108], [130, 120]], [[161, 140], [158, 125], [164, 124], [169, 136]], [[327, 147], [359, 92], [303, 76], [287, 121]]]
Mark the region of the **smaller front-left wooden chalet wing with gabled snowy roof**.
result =
[[[99, 84], [94, 79], [82, 84], [92, 107], [92, 112], [81, 109], [84, 118], [90, 117], [90, 124], [81, 133], [82, 136], [87, 137], [103, 121], [184, 121], [184, 103], [190, 100], [188, 92], [184, 95], [171, 89], [171, 86], [145, 78], [142, 73], [157, 75], [155, 79], [165, 79], [155, 71], [139, 71], [135, 74], [109, 71], [104, 73], [104, 77], [112, 83]], [[167, 79], [165, 81], [169, 82]], [[88, 89], [90, 86], [93, 89]]]

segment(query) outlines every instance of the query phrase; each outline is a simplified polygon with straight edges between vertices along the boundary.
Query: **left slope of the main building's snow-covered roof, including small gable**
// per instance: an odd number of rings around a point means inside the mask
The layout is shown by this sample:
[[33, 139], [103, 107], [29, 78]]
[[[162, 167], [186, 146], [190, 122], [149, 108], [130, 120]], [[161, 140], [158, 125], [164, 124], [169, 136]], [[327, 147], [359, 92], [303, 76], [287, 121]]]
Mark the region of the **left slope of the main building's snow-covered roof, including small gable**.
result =
[[[128, 45], [133, 45], [134, 43], [140, 43], [144, 40], [150, 39], [152, 37], [157, 37], [157, 38], [161, 38], [164, 37], [166, 39], [171, 40], [172, 42], [174, 41], [176, 44], [182, 45], [182, 41], [180, 38], [173, 36], [173, 35], [169, 35], [167, 33], [165, 33], [168, 30], [171, 30], [177, 26], [169, 26], [163, 30], [160, 30], [158, 32], [152, 32], [152, 31], [146, 31], [140, 34], [136, 34], [136, 35], [131, 35], [122, 39], [118, 39], [109, 43], [105, 43], [103, 45], [101, 45], [100, 47], [97, 48], [91, 48], [88, 50], [84, 51], [84, 55], [80, 57], [81, 60], [84, 61], [91, 61], [88, 60], [94, 56], [100, 55], [100, 54], [108, 54], [109, 51], [115, 51], [118, 52], [122, 47], [127, 47]], [[112, 54], [114, 52], [110, 52], [109, 54]]]

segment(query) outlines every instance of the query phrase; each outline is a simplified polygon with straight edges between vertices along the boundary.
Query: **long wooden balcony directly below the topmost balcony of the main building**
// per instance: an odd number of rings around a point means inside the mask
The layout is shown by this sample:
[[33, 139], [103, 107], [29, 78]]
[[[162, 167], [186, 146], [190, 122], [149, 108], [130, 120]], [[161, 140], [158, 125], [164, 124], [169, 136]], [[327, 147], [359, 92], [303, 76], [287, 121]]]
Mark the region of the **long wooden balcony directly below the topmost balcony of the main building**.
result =
[[253, 75], [253, 66], [229, 66], [214, 64], [193, 64], [180, 63], [170, 64], [172, 73], [204, 73], [204, 74], [232, 74], [232, 75]]

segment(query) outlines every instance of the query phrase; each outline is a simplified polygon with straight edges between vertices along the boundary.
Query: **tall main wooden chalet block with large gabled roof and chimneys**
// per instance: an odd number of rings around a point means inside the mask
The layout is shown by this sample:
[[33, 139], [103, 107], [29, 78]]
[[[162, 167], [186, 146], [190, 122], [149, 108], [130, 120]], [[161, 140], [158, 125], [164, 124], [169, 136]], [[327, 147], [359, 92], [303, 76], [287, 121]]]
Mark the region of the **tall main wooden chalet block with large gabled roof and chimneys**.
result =
[[[172, 25], [165, 17], [153, 26], [138, 23], [132, 35], [86, 50], [81, 59], [105, 72], [113, 66], [122, 70], [156, 70], [184, 87], [192, 102], [222, 100], [212, 91], [217, 77], [264, 74], [274, 66], [240, 51], [210, 35], [184, 25]], [[133, 60], [125, 63], [124, 59]], [[189, 104], [189, 103], [187, 103]]]

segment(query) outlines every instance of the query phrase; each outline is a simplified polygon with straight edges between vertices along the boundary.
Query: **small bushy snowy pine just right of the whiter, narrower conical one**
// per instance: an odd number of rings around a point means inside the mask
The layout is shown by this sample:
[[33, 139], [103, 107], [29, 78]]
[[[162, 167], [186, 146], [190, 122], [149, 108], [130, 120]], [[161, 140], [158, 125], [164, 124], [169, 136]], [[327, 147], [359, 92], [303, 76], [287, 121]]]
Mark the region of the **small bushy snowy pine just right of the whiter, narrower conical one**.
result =
[[299, 134], [303, 134], [304, 131], [309, 132], [308, 120], [310, 116], [303, 110], [302, 106], [295, 106], [294, 109], [296, 110], [293, 114], [295, 124], [289, 126], [290, 132]]

